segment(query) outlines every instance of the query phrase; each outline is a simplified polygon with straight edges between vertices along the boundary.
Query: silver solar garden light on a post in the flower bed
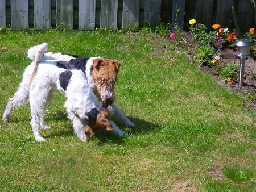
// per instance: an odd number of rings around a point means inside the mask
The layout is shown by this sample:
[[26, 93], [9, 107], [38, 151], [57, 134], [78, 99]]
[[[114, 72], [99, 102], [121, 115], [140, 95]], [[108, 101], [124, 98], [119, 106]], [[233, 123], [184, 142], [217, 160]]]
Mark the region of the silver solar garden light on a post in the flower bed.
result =
[[237, 46], [237, 52], [235, 55], [240, 57], [240, 72], [239, 72], [239, 86], [243, 86], [243, 74], [245, 72], [245, 58], [250, 55], [250, 47], [253, 46], [253, 42], [249, 39], [238, 39], [234, 45]]

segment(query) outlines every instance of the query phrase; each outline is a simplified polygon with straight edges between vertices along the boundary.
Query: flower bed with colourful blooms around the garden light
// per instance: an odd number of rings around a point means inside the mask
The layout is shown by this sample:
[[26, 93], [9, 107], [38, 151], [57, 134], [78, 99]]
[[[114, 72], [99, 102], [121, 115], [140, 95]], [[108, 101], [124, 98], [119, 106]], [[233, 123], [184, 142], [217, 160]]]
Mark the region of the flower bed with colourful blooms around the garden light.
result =
[[[256, 106], [256, 47], [252, 48], [251, 56], [246, 59], [243, 87], [238, 86], [240, 59], [234, 55], [236, 47], [234, 41], [238, 39], [236, 31], [222, 28], [220, 24], [213, 24], [212, 31], [208, 31], [204, 24], [195, 19], [189, 20], [189, 36], [196, 41], [193, 45], [193, 57], [199, 63], [200, 69], [210, 73], [223, 83], [246, 95], [246, 99]], [[172, 35], [172, 38], [174, 36]], [[171, 36], [170, 36], [171, 38]], [[256, 42], [254, 28], [250, 28], [245, 38]]]

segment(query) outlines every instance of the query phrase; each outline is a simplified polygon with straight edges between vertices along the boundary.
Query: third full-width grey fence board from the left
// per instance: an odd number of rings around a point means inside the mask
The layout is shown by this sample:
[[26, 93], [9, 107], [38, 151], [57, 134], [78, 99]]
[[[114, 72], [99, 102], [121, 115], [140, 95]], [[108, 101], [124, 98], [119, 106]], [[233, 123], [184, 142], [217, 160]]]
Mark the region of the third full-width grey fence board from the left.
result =
[[56, 27], [73, 28], [73, 0], [56, 1]]

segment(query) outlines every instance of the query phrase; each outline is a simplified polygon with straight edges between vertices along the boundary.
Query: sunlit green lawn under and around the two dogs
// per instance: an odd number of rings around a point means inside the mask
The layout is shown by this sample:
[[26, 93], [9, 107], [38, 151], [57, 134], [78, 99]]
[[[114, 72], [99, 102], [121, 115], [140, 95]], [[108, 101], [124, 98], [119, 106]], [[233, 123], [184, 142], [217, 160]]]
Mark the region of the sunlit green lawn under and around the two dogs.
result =
[[56, 93], [52, 128], [37, 143], [29, 106], [20, 107], [0, 124], [0, 191], [255, 190], [255, 112], [189, 63], [179, 34], [2, 30], [0, 39], [0, 114], [30, 64], [27, 49], [46, 41], [51, 52], [120, 60], [116, 102], [136, 124], [120, 125], [129, 136], [102, 131], [82, 143]]

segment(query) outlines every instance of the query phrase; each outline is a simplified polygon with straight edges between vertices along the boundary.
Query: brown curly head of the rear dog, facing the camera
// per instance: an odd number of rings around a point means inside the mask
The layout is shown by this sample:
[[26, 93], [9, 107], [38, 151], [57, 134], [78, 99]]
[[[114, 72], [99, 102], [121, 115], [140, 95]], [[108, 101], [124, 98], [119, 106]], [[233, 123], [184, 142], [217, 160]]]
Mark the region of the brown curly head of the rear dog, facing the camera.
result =
[[121, 62], [111, 59], [94, 59], [92, 77], [104, 105], [114, 102], [114, 85]]

